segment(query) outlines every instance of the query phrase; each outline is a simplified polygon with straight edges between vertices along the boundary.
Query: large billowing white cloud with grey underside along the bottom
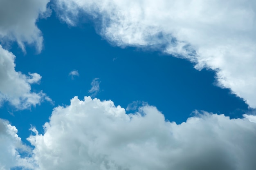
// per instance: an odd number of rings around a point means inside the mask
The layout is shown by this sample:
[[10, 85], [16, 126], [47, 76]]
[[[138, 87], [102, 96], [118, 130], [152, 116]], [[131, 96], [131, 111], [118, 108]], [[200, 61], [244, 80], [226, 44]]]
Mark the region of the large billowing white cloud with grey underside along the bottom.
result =
[[[254, 116], [251, 116], [254, 117]], [[153, 106], [125, 113], [112, 101], [74, 97], [31, 135], [36, 170], [254, 170], [256, 124], [195, 114], [177, 125]]]

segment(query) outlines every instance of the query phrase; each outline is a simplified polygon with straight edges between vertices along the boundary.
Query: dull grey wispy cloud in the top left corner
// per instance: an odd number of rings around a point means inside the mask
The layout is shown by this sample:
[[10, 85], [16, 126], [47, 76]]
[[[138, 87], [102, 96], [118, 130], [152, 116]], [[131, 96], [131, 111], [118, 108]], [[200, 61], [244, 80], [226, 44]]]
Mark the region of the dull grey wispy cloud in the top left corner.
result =
[[0, 1], [0, 40], [1, 42], [17, 41], [25, 51], [25, 44], [36, 44], [40, 52], [43, 36], [36, 26], [38, 17], [47, 17], [50, 0], [1, 0]]

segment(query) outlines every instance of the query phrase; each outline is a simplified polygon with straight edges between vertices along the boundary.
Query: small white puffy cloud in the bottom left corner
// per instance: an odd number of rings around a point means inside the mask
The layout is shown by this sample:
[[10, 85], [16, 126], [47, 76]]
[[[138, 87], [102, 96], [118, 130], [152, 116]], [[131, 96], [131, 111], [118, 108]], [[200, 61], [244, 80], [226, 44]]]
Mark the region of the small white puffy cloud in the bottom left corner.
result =
[[0, 119], [0, 170], [11, 170], [11, 168], [34, 168], [31, 157], [22, 157], [20, 152], [31, 152], [22, 144], [17, 135], [18, 130], [11, 126], [8, 121]]

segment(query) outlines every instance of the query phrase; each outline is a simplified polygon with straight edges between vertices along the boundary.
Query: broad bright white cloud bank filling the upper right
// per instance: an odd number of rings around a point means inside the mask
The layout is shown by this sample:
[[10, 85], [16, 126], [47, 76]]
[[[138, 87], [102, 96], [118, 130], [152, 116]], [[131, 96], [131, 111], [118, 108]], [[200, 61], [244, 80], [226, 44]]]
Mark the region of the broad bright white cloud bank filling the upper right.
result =
[[56, 7], [71, 25], [80, 14], [90, 15], [98, 32], [117, 46], [161, 50], [198, 70], [211, 68], [218, 86], [256, 107], [255, 1], [56, 0]]

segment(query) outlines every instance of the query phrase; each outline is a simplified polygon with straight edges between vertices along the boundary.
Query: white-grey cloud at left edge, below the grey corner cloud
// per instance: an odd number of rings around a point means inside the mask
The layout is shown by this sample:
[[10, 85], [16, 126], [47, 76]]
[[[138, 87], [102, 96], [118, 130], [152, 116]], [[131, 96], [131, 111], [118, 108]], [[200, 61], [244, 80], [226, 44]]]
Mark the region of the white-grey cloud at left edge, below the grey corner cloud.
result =
[[15, 55], [0, 45], [0, 106], [9, 102], [17, 109], [26, 109], [40, 104], [43, 100], [51, 102], [42, 91], [31, 91], [31, 84], [39, 84], [42, 78], [38, 73], [24, 75], [15, 71]]

